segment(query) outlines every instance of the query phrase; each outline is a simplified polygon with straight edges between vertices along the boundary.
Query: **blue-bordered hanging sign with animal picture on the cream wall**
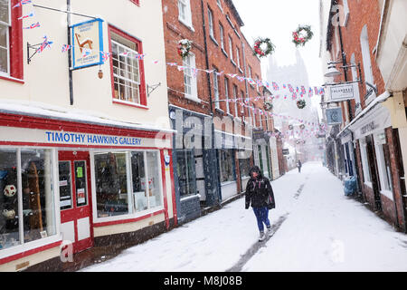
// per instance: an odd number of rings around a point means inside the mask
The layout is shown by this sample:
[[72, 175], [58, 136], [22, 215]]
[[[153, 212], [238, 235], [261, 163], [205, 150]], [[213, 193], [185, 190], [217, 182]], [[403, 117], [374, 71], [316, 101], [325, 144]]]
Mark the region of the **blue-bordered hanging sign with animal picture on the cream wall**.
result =
[[102, 24], [98, 18], [71, 26], [73, 70], [103, 64]]

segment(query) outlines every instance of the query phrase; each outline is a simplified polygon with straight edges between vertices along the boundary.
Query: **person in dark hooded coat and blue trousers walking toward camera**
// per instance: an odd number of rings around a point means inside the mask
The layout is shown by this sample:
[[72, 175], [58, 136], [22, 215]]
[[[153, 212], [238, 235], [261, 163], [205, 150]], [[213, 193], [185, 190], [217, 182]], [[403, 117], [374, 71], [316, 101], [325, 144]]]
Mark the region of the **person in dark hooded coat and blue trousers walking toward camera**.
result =
[[245, 208], [253, 208], [260, 231], [259, 241], [261, 242], [266, 238], [266, 235], [264, 234], [264, 225], [267, 227], [267, 234], [270, 235], [271, 233], [269, 210], [275, 208], [276, 204], [270, 180], [263, 177], [260, 168], [257, 166], [252, 167], [250, 175], [251, 179], [249, 179], [246, 186]]

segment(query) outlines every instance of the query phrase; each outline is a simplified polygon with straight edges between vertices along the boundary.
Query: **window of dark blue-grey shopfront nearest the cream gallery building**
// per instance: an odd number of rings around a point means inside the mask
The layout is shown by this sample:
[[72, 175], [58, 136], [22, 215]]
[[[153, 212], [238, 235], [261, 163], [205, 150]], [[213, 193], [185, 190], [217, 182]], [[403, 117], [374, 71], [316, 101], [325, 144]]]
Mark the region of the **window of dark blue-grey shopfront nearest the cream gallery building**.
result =
[[196, 194], [194, 150], [176, 151], [176, 173], [181, 197]]

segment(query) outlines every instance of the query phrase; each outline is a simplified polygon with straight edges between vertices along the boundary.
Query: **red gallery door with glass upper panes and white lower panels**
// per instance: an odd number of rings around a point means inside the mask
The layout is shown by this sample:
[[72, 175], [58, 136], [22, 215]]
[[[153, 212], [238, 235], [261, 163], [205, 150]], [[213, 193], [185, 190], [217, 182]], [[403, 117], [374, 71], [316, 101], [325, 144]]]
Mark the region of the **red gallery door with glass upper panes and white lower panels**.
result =
[[86, 151], [58, 153], [61, 229], [73, 253], [93, 247], [90, 200], [90, 155]]

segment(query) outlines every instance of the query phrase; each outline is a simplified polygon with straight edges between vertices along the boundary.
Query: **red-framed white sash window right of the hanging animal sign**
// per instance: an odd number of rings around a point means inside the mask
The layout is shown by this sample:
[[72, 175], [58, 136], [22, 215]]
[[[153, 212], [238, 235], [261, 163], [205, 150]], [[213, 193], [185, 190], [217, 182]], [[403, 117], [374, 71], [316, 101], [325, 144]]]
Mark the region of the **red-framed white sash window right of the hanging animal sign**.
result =
[[147, 105], [142, 43], [116, 28], [109, 27], [113, 99], [128, 104]]

